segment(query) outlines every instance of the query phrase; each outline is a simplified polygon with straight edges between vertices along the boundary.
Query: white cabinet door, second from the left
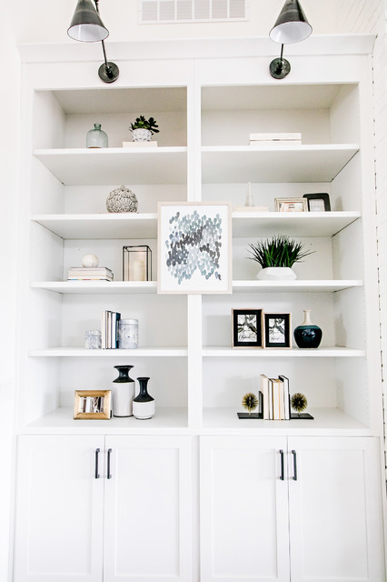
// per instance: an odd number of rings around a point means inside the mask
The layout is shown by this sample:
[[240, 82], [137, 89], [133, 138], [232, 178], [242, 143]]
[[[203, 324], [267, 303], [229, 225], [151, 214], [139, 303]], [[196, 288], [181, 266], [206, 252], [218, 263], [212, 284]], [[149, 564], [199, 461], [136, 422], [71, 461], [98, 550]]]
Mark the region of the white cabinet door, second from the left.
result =
[[105, 447], [104, 582], [189, 582], [191, 438], [106, 437]]

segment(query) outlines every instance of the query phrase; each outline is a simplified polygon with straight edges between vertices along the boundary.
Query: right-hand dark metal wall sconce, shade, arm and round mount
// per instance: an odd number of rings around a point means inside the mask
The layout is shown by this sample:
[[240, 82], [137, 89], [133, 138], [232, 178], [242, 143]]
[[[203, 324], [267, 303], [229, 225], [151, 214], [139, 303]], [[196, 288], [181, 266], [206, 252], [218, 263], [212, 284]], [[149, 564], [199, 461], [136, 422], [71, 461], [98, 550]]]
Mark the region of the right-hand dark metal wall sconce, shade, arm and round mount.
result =
[[281, 56], [274, 58], [270, 64], [270, 74], [274, 79], [283, 79], [289, 75], [291, 65], [283, 58], [283, 45], [300, 43], [312, 34], [312, 26], [303, 14], [303, 8], [298, 0], [286, 0], [283, 9], [269, 33], [270, 38], [281, 43]]

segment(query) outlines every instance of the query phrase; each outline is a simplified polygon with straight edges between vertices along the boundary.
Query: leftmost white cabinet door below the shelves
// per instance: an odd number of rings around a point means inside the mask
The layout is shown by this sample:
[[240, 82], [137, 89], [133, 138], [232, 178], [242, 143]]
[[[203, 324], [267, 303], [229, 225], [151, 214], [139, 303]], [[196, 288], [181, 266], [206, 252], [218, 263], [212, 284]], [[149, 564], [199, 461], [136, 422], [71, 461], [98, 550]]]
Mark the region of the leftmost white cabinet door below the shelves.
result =
[[15, 582], [102, 580], [103, 437], [18, 439]]

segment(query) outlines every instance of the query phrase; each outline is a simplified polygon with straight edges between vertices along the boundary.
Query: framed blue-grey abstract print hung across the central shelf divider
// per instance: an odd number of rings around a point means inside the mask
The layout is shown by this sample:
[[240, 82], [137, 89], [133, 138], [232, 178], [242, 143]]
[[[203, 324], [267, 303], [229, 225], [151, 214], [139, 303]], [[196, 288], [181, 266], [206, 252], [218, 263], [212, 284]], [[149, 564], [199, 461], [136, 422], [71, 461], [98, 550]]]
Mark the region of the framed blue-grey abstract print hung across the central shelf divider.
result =
[[231, 293], [231, 204], [159, 202], [158, 293]]

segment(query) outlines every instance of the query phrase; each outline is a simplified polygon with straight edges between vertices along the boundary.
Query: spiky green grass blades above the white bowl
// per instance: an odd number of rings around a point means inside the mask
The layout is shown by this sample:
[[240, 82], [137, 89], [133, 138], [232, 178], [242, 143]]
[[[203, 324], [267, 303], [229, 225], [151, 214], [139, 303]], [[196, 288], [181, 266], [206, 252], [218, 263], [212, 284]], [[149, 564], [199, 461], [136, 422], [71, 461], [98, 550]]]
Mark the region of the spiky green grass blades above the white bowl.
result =
[[249, 252], [253, 256], [248, 258], [259, 263], [262, 268], [268, 266], [290, 266], [301, 261], [304, 256], [311, 255], [313, 251], [303, 251], [303, 243], [297, 243], [288, 236], [277, 235], [264, 241], [258, 241], [255, 245], [249, 245]]

